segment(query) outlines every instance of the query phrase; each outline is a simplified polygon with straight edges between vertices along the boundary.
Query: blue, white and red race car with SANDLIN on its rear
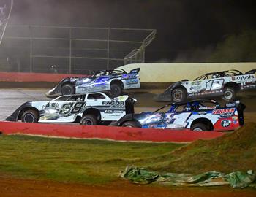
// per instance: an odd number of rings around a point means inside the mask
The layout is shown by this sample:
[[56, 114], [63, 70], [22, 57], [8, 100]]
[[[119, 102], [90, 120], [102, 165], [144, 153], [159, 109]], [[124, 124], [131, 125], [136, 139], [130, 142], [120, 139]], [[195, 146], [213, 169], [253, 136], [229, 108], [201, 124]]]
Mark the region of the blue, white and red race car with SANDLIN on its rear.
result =
[[[170, 107], [167, 112], [160, 112]], [[244, 104], [240, 101], [221, 107], [217, 101], [202, 99], [167, 104], [154, 112], [121, 117], [118, 126], [138, 128], [187, 128], [192, 131], [227, 131], [244, 125]]]

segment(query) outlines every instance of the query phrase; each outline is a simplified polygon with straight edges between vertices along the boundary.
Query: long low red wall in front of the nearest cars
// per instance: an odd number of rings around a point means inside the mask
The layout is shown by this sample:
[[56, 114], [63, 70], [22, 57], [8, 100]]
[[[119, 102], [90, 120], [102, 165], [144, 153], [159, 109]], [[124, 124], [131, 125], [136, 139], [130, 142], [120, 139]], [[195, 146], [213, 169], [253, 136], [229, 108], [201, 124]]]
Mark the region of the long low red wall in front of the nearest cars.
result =
[[112, 139], [117, 141], [192, 142], [213, 139], [224, 133], [215, 131], [189, 131], [112, 126], [83, 126], [75, 124], [13, 123], [0, 122], [3, 134], [32, 134], [42, 136], [72, 137], [81, 139]]

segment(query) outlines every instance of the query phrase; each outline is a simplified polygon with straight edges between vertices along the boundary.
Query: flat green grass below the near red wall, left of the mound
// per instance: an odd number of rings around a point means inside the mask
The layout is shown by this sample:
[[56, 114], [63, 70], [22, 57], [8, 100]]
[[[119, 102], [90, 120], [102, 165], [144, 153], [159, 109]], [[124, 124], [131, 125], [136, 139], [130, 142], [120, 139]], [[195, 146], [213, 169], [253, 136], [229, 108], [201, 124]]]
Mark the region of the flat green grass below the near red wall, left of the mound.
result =
[[29, 179], [100, 184], [117, 179], [118, 171], [127, 165], [154, 166], [150, 158], [181, 146], [1, 136], [0, 171]]

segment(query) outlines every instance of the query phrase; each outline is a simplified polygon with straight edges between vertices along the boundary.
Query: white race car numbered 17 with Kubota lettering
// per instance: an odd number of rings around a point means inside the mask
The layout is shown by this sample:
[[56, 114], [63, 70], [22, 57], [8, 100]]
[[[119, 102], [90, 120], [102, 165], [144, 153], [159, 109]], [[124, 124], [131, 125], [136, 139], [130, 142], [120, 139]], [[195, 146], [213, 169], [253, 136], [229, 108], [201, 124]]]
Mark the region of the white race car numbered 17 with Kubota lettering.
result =
[[187, 99], [222, 96], [225, 101], [233, 101], [239, 90], [256, 88], [255, 72], [256, 69], [245, 74], [238, 70], [229, 70], [203, 74], [193, 81], [181, 80], [174, 82], [154, 100], [182, 102]]

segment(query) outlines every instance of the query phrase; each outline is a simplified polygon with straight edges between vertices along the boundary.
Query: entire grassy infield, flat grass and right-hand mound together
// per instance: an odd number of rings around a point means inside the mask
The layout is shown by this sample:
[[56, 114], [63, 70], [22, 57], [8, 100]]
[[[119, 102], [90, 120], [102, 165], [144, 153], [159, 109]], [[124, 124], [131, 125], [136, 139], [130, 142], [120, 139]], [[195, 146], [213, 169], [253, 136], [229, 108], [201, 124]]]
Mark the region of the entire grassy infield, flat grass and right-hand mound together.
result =
[[30, 179], [101, 184], [129, 165], [156, 171], [256, 171], [256, 123], [191, 144], [1, 136], [0, 173]]

